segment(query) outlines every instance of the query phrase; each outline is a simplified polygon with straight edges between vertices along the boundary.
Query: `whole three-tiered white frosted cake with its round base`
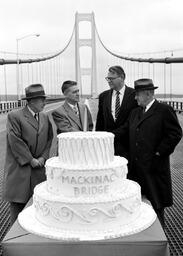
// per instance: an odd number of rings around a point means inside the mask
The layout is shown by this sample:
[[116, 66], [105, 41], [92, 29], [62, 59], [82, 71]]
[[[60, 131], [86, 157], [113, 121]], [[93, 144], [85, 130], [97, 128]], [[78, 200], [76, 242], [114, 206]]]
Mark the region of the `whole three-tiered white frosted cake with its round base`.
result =
[[127, 160], [114, 156], [114, 135], [58, 135], [58, 157], [46, 162], [47, 180], [33, 205], [19, 214], [30, 232], [56, 239], [98, 240], [137, 233], [155, 218], [140, 186], [126, 179]]

